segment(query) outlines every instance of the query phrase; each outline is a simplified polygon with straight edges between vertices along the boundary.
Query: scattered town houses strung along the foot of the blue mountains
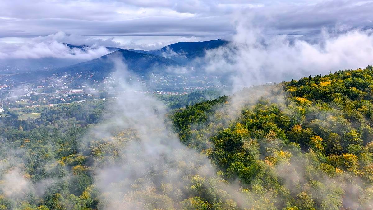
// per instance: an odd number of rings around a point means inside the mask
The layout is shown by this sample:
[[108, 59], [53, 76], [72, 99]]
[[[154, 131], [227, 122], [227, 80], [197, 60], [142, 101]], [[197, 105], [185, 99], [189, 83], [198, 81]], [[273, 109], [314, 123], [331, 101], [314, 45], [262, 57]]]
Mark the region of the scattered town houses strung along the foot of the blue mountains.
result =
[[[3, 78], [1, 78], [3, 76]], [[0, 75], [0, 96], [6, 97], [7, 90], [2, 88], [14, 86], [20, 81], [9, 81], [9, 84], [4, 79], [8, 79], [8, 75]], [[225, 85], [216, 82], [221, 81], [219, 76], [213, 75], [191, 75], [191, 74], [156, 74], [150, 75], [128, 75], [126, 78], [119, 77], [105, 77], [102, 80], [95, 80], [95, 72], [82, 71], [76, 73], [55, 73], [37, 81], [29, 81], [36, 83], [35, 89], [46, 89], [44, 91], [35, 90], [37, 92], [52, 93], [51, 95], [64, 95], [68, 94], [91, 94], [106, 92], [115, 94], [125, 90], [128, 87], [126, 84], [131, 84], [133, 90], [149, 94], [164, 94], [164, 95], [182, 95], [195, 90], [204, 89], [217, 89]], [[14, 89], [14, 88], [13, 88]], [[1, 93], [3, 92], [3, 93]], [[56, 95], [57, 96], [57, 95]], [[57, 96], [58, 97], [58, 96]]]

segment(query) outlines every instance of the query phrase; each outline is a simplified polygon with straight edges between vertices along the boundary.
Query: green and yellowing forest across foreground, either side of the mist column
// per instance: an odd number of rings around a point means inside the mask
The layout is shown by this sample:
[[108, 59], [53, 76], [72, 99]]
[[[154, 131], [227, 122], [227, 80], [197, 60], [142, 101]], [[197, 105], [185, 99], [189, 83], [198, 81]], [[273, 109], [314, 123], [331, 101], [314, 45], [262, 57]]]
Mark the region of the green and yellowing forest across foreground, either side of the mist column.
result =
[[[172, 109], [164, 129], [201, 161], [167, 160], [176, 172], [149, 169], [115, 194], [100, 191], [97, 171], [124, 161], [120, 148], [138, 137], [120, 127], [110, 141], [87, 136], [115, 114], [110, 101], [10, 111], [0, 118], [0, 209], [110, 209], [110, 199], [132, 209], [373, 209], [371, 65], [204, 98], [162, 99]], [[170, 173], [182, 181], [157, 182]]]

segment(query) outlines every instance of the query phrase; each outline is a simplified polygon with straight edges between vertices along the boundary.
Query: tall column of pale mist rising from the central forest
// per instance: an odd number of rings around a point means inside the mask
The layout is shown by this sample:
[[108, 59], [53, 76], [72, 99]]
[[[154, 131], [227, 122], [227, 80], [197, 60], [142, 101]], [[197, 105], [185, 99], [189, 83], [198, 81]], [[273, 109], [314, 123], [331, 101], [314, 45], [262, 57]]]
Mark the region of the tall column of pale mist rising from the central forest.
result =
[[[108, 102], [107, 115], [87, 133], [81, 145], [82, 151], [95, 142], [115, 150], [114, 156], [107, 151], [106, 155], [94, 157], [94, 184], [101, 192], [100, 208], [168, 209], [173, 207], [170, 197], [179, 200], [189, 194], [184, 189], [189, 185], [188, 175], [220, 180], [205, 155], [182, 145], [175, 133], [166, 128], [165, 105], [139, 92], [137, 81], [130, 79], [135, 75], [127, 70], [125, 61], [118, 58], [113, 62], [112, 77], [120, 80], [116, 87], [119, 94], [115, 101]], [[167, 196], [158, 192], [164, 185], [171, 186]], [[220, 180], [216, 189], [214, 196], [230, 196], [239, 206], [244, 205], [238, 186]], [[163, 197], [164, 203], [148, 206], [158, 203], [154, 202], [157, 197]]]

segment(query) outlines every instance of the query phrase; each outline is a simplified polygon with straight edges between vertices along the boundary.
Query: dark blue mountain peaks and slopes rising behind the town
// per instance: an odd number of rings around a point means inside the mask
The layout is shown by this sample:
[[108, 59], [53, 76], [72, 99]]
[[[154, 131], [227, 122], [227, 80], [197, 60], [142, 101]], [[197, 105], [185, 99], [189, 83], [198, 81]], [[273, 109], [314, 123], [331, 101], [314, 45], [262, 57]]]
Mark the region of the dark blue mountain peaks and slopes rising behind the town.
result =
[[[111, 53], [91, 61], [69, 65], [58, 68], [57, 71], [79, 72], [94, 71], [106, 74], [113, 70], [115, 59], [123, 60], [129, 70], [138, 74], [147, 74], [150, 71], [160, 71], [171, 66], [185, 66], [189, 61], [205, 55], [206, 50], [215, 49], [227, 44], [228, 41], [217, 39], [211, 41], [179, 42], [170, 44], [159, 50], [134, 50], [120, 49], [117, 47], [107, 47]], [[86, 49], [87, 46], [75, 46], [67, 44], [69, 47]]]

